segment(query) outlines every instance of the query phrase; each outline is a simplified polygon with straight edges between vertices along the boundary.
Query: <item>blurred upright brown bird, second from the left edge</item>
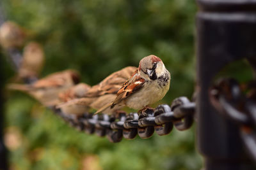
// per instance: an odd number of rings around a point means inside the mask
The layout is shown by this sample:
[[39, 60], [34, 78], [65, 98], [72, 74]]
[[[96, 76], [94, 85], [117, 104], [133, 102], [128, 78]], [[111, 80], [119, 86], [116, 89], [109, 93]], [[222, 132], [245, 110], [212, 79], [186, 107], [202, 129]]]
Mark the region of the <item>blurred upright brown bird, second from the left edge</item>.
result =
[[44, 50], [36, 42], [30, 42], [24, 47], [21, 66], [19, 69], [20, 78], [38, 77], [44, 66]]

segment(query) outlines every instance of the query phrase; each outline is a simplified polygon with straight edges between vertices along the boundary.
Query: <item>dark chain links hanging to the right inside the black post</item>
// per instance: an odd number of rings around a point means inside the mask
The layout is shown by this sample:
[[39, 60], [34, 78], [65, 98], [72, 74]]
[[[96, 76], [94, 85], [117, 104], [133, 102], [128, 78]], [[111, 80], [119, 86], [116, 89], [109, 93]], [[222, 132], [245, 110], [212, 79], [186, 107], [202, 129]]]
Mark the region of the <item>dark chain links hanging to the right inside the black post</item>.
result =
[[256, 161], [256, 83], [244, 88], [234, 79], [222, 79], [210, 90], [210, 99], [216, 110], [239, 126], [241, 139]]

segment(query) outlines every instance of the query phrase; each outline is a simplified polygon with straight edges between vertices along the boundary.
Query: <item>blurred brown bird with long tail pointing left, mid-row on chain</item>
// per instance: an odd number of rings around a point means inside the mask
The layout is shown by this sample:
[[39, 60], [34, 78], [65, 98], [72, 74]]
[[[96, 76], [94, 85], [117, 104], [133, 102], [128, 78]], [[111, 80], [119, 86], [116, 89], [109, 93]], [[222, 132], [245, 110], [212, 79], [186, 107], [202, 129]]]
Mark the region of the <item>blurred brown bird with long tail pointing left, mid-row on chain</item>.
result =
[[27, 92], [45, 106], [58, 102], [58, 94], [79, 83], [79, 74], [65, 70], [50, 74], [31, 85], [9, 84], [8, 89]]

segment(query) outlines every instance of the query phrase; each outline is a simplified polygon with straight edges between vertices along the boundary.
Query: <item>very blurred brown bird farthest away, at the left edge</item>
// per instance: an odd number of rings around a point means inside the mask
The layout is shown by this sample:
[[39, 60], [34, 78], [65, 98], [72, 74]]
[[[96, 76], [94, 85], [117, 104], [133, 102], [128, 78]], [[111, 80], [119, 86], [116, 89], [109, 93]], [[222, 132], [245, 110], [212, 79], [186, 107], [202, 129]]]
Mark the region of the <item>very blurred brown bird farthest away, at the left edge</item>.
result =
[[6, 21], [0, 27], [0, 44], [5, 49], [22, 46], [25, 38], [24, 29], [15, 22]]

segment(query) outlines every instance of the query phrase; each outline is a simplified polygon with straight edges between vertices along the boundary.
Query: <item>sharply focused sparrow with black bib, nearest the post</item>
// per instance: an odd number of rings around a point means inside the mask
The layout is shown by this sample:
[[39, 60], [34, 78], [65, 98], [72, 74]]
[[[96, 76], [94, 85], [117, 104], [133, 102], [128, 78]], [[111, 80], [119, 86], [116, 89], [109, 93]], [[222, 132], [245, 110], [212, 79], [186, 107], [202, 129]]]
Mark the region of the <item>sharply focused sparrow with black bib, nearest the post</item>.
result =
[[138, 69], [118, 90], [115, 99], [95, 114], [115, 106], [128, 106], [141, 111], [163, 99], [170, 88], [170, 80], [170, 72], [163, 61], [156, 55], [148, 55], [140, 60]]

